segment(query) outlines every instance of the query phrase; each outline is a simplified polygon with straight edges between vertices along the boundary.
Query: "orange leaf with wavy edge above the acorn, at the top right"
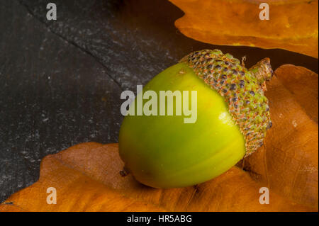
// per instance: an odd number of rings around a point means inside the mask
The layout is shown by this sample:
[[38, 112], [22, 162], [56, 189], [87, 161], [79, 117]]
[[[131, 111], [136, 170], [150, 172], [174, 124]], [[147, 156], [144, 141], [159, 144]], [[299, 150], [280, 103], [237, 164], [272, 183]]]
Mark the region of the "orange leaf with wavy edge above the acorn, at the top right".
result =
[[169, 0], [185, 15], [175, 26], [189, 38], [214, 45], [281, 48], [318, 58], [318, 0]]

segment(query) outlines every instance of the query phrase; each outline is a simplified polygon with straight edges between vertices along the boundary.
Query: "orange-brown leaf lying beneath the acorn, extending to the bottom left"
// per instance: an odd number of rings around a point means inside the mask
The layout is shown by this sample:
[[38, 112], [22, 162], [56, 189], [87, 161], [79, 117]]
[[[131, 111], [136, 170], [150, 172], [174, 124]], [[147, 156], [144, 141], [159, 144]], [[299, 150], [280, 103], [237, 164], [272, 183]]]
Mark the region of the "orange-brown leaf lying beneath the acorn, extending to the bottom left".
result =
[[[133, 176], [122, 177], [118, 145], [84, 143], [43, 159], [40, 179], [13, 194], [0, 210], [26, 211], [306, 211], [271, 193], [259, 204], [261, 184], [233, 167], [218, 178], [188, 188], [155, 189]], [[48, 187], [57, 189], [57, 204], [48, 205]], [[129, 198], [128, 198], [129, 197]], [[148, 203], [148, 204], [147, 204]]]

